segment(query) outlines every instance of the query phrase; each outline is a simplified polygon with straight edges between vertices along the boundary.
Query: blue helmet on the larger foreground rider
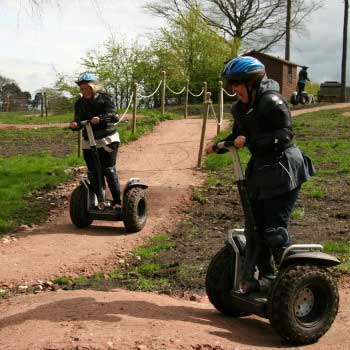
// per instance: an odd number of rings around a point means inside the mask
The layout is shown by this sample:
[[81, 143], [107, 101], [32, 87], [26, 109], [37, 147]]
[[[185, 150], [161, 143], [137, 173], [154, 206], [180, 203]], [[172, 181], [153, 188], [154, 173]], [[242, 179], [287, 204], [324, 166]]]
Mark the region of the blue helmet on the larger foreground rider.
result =
[[265, 75], [265, 66], [251, 56], [240, 56], [229, 61], [221, 76], [233, 82], [245, 83], [249, 80], [262, 78]]

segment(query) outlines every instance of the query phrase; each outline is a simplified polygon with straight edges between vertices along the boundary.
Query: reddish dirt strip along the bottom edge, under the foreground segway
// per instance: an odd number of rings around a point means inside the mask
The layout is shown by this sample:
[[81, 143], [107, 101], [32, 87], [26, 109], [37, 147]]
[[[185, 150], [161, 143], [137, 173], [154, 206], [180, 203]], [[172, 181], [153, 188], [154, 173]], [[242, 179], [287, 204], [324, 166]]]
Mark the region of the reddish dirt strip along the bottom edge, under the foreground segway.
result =
[[201, 303], [151, 293], [79, 290], [2, 302], [0, 349], [16, 350], [253, 350], [350, 349], [349, 294], [317, 344], [281, 344], [267, 320], [224, 317]]

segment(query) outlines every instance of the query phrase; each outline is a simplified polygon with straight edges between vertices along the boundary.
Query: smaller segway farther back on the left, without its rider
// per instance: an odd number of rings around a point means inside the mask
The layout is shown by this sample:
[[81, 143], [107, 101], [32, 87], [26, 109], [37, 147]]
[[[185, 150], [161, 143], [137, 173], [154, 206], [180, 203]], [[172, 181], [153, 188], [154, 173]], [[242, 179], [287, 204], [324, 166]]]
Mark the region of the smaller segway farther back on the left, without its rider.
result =
[[70, 217], [78, 228], [84, 228], [94, 220], [123, 221], [127, 232], [138, 232], [143, 229], [147, 220], [147, 185], [139, 178], [127, 181], [123, 196], [122, 208], [116, 210], [106, 198], [105, 180], [98, 155], [96, 141], [90, 121], [82, 121], [85, 127], [91, 154], [96, 164], [96, 184], [92, 184], [87, 175], [83, 175], [80, 184], [74, 189], [70, 199]]

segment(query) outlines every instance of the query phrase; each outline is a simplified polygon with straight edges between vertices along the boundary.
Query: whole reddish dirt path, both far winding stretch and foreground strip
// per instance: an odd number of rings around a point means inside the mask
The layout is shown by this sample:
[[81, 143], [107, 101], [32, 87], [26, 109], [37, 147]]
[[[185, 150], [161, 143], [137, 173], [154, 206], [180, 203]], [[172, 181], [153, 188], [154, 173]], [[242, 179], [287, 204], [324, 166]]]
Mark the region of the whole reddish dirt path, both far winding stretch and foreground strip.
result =
[[[18, 285], [101, 271], [154, 232], [161, 233], [164, 224], [176, 220], [190, 186], [202, 181], [201, 173], [194, 169], [200, 130], [200, 120], [167, 121], [154, 133], [122, 147], [118, 160], [121, 182], [139, 176], [150, 185], [151, 212], [141, 233], [125, 235], [121, 223], [97, 223], [77, 230], [67, 210], [58, 212], [52, 223], [21, 234], [17, 241], [0, 244], [2, 283]], [[207, 138], [215, 131], [216, 125], [210, 122]], [[341, 286], [340, 312], [332, 329], [319, 343], [300, 349], [350, 348], [348, 285]], [[196, 303], [152, 293], [86, 290], [23, 295], [1, 301], [0, 307], [0, 349], [6, 350], [287, 347], [281, 345], [266, 320], [225, 318], [207, 300]]]

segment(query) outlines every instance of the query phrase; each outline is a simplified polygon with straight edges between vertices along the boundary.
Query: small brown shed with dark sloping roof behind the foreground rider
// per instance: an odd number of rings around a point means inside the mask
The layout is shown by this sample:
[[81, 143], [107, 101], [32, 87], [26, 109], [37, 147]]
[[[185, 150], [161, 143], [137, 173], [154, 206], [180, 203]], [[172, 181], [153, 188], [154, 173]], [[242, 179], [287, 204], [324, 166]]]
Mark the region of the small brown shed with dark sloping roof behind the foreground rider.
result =
[[258, 51], [248, 52], [244, 56], [252, 56], [261, 61], [265, 65], [267, 76], [279, 83], [280, 93], [289, 101], [292, 92], [297, 91], [299, 65]]

